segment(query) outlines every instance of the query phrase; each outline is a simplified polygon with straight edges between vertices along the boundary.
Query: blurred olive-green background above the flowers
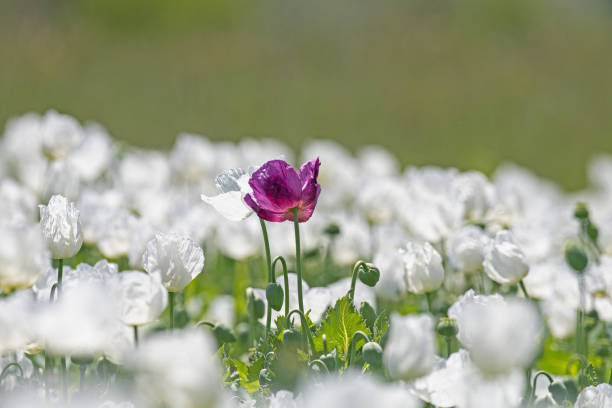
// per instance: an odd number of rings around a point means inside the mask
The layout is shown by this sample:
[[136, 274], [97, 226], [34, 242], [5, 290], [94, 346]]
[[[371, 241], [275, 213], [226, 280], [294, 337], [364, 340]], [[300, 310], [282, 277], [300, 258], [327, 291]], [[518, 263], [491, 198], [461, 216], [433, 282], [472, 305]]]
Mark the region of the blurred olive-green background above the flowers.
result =
[[612, 151], [612, 7], [563, 0], [0, 0], [0, 121], [56, 108], [168, 147], [379, 143], [568, 188]]

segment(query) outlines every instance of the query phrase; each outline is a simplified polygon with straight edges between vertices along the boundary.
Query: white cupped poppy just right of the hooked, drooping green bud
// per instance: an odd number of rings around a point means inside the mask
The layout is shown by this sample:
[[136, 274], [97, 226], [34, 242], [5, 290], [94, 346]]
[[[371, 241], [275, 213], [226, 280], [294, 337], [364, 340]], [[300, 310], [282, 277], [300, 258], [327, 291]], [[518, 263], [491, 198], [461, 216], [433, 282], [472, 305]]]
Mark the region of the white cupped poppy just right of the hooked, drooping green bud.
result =
[[432, 292], [444, 281], [442, 257], [429, 242], [409, 242], [401, 250], [408, 290], [416, 294]]

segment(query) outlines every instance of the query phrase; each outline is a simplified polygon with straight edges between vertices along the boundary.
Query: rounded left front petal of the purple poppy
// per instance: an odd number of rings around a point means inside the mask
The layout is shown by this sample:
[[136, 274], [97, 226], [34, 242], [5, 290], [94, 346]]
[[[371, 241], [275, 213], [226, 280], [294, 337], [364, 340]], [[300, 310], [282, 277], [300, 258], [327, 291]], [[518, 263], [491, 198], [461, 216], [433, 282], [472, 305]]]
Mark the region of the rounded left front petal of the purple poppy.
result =
[[264, 163], [249, 180], [257, 205], [266, 211], [283, 213], [300, 204], [300, 177], [284, 160]]

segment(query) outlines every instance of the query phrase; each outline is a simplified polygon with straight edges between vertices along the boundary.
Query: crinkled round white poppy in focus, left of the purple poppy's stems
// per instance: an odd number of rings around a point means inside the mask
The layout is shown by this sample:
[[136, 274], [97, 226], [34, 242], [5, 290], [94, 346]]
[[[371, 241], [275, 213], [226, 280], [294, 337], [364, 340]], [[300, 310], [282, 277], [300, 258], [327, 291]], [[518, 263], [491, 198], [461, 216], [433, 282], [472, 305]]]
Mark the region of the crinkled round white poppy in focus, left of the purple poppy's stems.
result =
[[160, 274], [168, 292], [180, 292], [202, 272], [204, 252], [190, 238], [157, 233], [147, 243], [142, 264], [150, 274]]

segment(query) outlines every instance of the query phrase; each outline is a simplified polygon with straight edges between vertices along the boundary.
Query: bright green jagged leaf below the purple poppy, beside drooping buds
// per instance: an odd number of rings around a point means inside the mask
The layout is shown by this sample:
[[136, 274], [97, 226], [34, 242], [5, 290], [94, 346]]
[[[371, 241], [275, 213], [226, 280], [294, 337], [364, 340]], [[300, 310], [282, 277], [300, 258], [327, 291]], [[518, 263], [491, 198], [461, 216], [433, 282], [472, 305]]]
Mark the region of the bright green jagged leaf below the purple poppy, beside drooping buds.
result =
[[327, 310], [314, 338], [315, 348], [323, 351], [323, 335], [325, 334], [328, 348], [330, 350], [336, 348], [339, 353], [346, 356], [356, 331], [370, 335], [370, 329], [365, 320], [357, 313], [348, 296], [344, 296], [338, 299], [333, 308]]

